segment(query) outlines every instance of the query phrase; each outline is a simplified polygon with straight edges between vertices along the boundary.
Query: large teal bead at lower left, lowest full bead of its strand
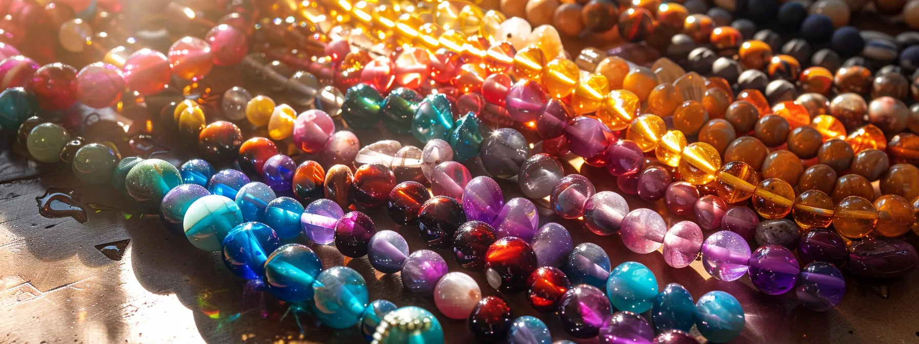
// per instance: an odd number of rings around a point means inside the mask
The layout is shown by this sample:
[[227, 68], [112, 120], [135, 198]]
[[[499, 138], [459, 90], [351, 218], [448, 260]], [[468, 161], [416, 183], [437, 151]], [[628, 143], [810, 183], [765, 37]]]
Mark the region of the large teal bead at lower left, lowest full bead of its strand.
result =
[[355, 326], [369, 302], [364, 278], [345, 266], [319, 272], [312, 283], [312, 293], [313, 314], [332, 328]]

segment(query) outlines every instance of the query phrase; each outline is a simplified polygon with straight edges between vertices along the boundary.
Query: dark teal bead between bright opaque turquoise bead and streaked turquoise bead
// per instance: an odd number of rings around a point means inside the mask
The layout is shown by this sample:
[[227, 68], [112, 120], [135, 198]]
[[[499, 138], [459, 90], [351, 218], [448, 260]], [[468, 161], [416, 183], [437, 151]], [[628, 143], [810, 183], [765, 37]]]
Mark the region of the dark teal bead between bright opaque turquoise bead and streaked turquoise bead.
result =
[[651, 316], [657, 332], [670, 328], [689, 332], [696, 316], [692, 294], [680, 284], [667, 284], [664, 291], [654, 297]]

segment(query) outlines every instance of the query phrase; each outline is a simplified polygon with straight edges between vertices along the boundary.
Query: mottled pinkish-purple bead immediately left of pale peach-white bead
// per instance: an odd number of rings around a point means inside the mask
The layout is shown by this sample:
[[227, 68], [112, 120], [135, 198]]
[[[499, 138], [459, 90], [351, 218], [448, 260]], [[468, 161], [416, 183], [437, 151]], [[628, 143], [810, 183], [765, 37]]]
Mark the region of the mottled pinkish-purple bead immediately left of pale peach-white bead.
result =
[[403, 286], [417, 296], [430, 296], [434, 294], [437, 281], [447, 272], [447, 261], [437, 252], [416, 250], [403, 263]]

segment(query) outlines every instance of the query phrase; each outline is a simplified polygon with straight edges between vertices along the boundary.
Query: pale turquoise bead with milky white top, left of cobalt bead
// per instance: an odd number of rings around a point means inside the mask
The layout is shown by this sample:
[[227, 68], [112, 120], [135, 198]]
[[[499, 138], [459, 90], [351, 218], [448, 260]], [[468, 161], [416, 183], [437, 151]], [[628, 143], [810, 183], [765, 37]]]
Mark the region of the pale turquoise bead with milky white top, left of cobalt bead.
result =
[[223, 239], [241, 223], [243, 212], [239, 205], [220, 194], [209, 194], [188, 206], [182, 227], [192, 245], [215, 252], [222, 249]]

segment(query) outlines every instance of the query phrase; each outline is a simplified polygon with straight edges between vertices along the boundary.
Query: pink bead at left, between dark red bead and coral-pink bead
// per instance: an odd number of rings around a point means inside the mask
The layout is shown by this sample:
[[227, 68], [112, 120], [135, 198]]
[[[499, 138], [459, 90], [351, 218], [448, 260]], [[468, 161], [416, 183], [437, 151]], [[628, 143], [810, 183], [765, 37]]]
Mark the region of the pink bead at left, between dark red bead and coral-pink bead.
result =
[[103, 108], [118, 103], [124, 92], [124, 75], [111, 64], [96, 62], [76, 74], [76, 98], [84, 105]]

